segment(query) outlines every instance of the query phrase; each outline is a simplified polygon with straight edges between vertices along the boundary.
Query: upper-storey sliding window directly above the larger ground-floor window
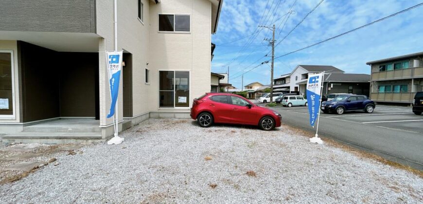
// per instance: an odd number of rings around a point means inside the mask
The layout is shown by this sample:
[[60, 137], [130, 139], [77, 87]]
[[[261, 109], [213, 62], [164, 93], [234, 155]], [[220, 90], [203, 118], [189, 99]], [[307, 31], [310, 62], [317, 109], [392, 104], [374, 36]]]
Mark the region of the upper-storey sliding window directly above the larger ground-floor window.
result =
[[190, 32], [190, 15], [159, 14], [159, 32]]

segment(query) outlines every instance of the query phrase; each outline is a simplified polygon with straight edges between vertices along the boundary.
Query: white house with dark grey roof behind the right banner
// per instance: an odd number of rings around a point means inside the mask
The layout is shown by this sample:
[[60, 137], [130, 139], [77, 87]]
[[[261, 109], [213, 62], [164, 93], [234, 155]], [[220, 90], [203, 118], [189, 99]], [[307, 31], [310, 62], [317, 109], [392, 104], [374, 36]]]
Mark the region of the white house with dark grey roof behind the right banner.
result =
[[297, 83], [308, 79], [309, 73], [320, 73], [322, 71], [326, 71], [327, 73], [344, 73], [343, 70], [334, 66], [298, 65], [291, 73], [284, 74], [273, 80], [273, 91], [300, 93], [300, 85]]

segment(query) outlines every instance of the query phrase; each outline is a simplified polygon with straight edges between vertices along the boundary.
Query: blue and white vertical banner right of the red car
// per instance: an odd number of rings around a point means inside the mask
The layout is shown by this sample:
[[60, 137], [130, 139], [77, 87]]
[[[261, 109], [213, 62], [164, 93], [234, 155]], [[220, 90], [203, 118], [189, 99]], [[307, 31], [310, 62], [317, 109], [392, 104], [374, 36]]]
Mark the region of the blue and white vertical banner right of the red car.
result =
[[323, 82], [323, 73], [308, 75], [307, 81], [307, 103], [310, 113], [310, 125], [314, 127], [317, 120], [317, 114], [320, 111], [320, 94]]

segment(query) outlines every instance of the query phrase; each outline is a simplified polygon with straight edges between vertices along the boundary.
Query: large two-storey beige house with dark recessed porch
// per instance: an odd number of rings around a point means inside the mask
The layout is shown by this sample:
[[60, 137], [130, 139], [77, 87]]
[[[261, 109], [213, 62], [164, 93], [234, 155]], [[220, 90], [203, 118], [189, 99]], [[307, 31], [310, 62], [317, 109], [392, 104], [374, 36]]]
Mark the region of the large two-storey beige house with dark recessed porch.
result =
[[[118, 0], [119, 131], [189, 118], [193, 99], [210, 91], [222, 1]], [[3, 140], [112, 136], [105, 51], [114, 50], [113, 0], [3, 0], [0, 19], [0, 133], [17, 133]], [[53, 120], [63, 129], [29, 128]]]

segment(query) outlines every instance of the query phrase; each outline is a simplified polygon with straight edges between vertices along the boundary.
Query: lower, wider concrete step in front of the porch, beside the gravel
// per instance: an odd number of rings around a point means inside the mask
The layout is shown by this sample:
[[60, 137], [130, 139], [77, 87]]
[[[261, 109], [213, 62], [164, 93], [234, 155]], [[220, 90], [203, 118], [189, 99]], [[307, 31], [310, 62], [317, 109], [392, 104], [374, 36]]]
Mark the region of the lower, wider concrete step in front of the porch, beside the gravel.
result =
[[44, 143], [44, 144], [63, 144], [63, 143], [89, 143], [93, 141], [103, 141], [101, 133], [40, 133], [40, 132], [21, 132], [1, 136], [5, 143]]

